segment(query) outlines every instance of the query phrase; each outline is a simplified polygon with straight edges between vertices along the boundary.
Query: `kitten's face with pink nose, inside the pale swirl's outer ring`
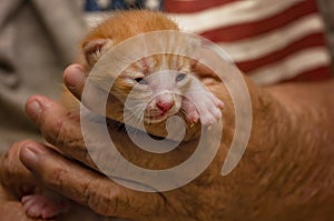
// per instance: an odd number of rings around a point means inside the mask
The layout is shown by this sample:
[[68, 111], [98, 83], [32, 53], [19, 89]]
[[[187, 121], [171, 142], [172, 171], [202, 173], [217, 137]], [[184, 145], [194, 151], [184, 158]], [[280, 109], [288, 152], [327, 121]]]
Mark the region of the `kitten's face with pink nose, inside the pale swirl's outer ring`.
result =
[[[110, 91], [128, 111], [127, 120], [158, 123], [181, 113], [183, 94], [190, 78], [189, 59], [159, 54], [141, 59], [127, 68]], [[136, 122], [132, 122], [136, 123]]]

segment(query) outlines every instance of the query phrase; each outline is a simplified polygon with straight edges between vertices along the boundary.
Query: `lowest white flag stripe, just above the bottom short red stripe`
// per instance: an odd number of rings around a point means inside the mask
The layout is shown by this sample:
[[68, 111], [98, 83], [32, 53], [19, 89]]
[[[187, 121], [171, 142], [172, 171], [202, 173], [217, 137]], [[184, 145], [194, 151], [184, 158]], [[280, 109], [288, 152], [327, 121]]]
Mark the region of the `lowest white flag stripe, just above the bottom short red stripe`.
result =
[[265, 66], [248, 73], [248, 77], [258, 84], [272, 84], [288, 80], [316, 68], [326, 67], [331, 57], [325, 47], [315, 47], [292, 54], [285, 60]]

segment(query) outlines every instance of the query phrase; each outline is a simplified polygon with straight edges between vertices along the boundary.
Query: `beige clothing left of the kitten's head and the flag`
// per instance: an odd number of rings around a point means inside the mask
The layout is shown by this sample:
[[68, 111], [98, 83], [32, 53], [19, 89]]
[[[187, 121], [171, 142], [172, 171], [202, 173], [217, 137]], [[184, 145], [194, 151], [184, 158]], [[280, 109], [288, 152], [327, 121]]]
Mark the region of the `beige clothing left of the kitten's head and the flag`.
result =
[[85, 27], [78, 1], [1, 0], [0, 150], [38, 134], [24, 102], [37, 93], [58, 99]]

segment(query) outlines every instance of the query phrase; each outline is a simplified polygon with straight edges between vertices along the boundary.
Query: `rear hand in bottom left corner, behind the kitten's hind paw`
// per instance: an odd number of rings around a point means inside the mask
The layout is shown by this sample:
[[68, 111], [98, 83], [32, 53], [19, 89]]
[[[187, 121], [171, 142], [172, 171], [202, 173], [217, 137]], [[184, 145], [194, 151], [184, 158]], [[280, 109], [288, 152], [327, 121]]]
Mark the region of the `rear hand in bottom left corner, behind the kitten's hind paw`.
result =
[[[33, 194], [37, 190], [40, 191], [41, 189], [45, 189], [20, 161], [19, 154], [21, 149], [30, 145], [45, 147], [41, 143], [24, 140], [13, 143], [0, 158], [0, 218], [3, 221], [42, 220], [41, 218], [37, 219], [29, 217], [21, 202], [22, 197]], [[102, 220], [102, 218], [92, 213], [86, 207], [71, 202], [68, 212], [57, 215], [57, 218], [55, 217], [51, 220], [98, 221]]]

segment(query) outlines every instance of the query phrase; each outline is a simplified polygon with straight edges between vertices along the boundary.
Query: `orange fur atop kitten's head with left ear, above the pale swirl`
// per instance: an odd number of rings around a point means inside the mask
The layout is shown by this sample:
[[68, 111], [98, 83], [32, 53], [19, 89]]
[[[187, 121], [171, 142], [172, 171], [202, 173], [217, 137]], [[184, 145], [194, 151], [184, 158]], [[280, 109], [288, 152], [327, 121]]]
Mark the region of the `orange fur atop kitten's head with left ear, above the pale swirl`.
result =
[[179, 28], [161, 12], [148, 10], [117, 12], [84, 39], [81, 43], [84, 64], [87, 69], [91, 69], [110, 47], [140, 33], [161, 30], [179, 30]]

